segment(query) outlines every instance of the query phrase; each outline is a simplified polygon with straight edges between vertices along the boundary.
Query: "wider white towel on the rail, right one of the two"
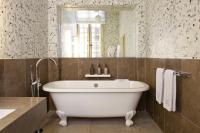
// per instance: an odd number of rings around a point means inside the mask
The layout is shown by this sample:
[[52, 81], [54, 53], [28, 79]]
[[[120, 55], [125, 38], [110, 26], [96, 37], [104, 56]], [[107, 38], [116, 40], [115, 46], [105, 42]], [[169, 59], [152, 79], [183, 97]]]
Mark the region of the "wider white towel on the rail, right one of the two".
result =
[[176, 111], [176, 72], [173, 70], [166, 70], [164, 74], [163, 107]]

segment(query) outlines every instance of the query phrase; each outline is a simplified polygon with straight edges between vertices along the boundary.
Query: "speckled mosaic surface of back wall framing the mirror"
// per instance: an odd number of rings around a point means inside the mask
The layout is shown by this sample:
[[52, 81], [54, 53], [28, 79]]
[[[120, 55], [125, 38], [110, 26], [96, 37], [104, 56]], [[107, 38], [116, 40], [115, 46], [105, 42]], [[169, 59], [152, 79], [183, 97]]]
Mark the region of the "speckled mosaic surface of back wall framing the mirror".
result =
[[[48, 0], [48, 51], [50, 57], [60, 57], [59, 55], [59, 45], [58, 45], [58, 25], [57, 25], [57, 6], [65, 5], [65, 6], [78, 6], [78, 7], [93, 7], [93, 6], [108, 6], [108, 5], [136, 5], [138, 3], [143, 3], [141, 0]], [[137, 13], [138, 21], [144, 20], [143, 10], [144, 6], [139, 6]], [[138, 23], [139, 27], [139, 37], [138, 37], [138, 45], [139, 48], [144, 47], [144, 28], [143, 22]], [[140, 27], [141, 26], [141, 27]], [[139, 49], [138, 48], [138, 49]], [[139, 50], [138, 53], [142, 52], [140, 55], [144, 56], [143, 50]]]

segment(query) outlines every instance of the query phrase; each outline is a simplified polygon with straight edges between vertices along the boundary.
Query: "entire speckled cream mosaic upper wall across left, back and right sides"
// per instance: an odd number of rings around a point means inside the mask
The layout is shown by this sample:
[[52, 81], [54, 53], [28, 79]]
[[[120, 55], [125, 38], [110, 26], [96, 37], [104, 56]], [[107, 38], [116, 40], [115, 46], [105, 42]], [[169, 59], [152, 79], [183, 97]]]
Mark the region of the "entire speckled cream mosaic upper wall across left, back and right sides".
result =
[[129, 4], [138, 4], [137, 57], [200, 58], [200, 0], [0, 0], [0, 58], [59, 57], [58, 5]]

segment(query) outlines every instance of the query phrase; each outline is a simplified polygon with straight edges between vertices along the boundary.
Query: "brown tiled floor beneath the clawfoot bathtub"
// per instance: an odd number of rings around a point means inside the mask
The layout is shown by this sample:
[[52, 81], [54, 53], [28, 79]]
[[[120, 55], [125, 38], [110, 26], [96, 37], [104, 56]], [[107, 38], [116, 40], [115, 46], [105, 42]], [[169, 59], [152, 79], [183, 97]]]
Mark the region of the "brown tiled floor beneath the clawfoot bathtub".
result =
[[135, 124], [128, 128], [124, 118], [69, 118], [68, 126], [58, 125], [59, 119], [52, 117], [44, 126], [44, 133], [162, 133], [155, 122], [145, 112], [139, 112]]

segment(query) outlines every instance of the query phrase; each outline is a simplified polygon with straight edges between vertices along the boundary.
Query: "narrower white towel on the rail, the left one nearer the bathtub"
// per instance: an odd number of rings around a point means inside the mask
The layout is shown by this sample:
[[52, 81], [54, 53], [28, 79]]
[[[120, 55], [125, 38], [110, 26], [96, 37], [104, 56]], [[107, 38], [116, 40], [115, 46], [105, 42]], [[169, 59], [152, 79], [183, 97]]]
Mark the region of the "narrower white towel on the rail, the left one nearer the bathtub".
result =
[[159, 104], [163, 102], [164, 72], [163, 68], [156, 69], [156, 101]]

